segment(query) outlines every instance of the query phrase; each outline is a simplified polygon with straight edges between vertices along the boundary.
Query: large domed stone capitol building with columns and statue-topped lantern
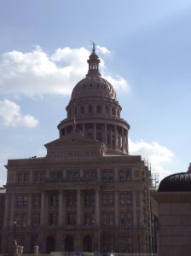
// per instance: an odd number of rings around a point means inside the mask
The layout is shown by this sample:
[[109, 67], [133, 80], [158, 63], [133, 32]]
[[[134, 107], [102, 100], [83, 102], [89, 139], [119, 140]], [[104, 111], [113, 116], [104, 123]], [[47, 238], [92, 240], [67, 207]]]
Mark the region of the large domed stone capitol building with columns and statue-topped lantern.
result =
[[93, 44], [46, 156], [8, 160], [2, 253], [14, 238], [26, 253], [151, 251], [150, 170], [128, 153], [130, 125], [99, 63]]

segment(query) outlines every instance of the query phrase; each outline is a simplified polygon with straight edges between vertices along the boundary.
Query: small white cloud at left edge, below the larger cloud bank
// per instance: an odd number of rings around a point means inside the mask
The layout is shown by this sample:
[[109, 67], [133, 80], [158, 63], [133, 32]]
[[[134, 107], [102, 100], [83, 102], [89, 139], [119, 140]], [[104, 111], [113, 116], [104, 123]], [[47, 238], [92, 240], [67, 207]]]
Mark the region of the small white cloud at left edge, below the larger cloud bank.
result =
[[0, 117], [6, 126], [26, 126], [32, 128], [38, 125], [38, 119], [32, 115], [20, 113], [20, 106], [9, 100], [0, 101]]

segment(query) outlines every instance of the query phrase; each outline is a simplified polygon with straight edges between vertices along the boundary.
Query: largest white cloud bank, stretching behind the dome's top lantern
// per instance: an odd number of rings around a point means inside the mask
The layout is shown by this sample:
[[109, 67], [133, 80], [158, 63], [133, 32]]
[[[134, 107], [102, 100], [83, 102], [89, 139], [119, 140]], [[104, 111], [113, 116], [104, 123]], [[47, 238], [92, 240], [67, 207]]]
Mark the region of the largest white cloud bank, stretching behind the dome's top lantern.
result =
[[[98, 48], [109, 54], [105, 47]], [[0, 56], [0, 90], [3, 95], [43, 96], [70, 95], [73, 86], [88, 72], [89, 50], [69, 47], [55, 49], [48, 54], [39, 46], [31, 52], [13, 50]], [[101, 61], [104, 67], [104, 61]], [[125, 90], [129, 85], [125, 79], [113, 79], [116, 90]]]

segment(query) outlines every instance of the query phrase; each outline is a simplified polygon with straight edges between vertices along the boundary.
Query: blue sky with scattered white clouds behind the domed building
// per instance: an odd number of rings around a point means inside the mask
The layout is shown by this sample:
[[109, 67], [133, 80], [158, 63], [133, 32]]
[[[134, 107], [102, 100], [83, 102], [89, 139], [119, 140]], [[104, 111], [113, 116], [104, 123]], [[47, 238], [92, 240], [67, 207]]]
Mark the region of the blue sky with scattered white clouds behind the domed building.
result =
[[8, 159], [45, 156], [59, 137], [91, 43], [130, 124], [130, 154], [159, 179], [187, 172], [190, 157], [191, 2], [0, 2], [0, 184]]

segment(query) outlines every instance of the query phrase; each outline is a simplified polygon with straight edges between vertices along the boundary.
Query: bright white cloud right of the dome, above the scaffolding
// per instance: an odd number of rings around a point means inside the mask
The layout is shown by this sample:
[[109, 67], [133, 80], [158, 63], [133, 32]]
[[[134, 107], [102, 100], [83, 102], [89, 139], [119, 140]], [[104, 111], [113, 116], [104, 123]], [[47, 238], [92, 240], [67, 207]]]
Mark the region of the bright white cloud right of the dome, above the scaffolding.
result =
[[143, 140], [140, 142], [132, 142], [129, 139], [130, 154], [142, 155], [142, 158], [151, 165], [151, 171], [159, 174], [159, 180], [172, 174], [168, 169], [169, 163], [173, 160], [173, 153], [169, 148], [160, 145], [157, 142], [146, 143]]

